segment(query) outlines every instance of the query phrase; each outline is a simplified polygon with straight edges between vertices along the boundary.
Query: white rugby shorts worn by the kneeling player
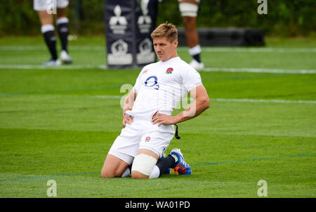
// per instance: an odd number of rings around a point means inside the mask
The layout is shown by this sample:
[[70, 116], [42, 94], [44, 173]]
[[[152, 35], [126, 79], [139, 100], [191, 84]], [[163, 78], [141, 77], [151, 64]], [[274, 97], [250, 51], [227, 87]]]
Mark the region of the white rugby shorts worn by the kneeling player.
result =
[[152, 124], [152, 114], [135, 115], [131, 125], [126, 124], [121, 134], [114, 140], [108, 154], [125, 161], [127, 164], [133, 162], [138, 150], [151, 150], [162, 157], [164, 150], [169, 146], [175, 133], [173, 125], [158, 127]]

